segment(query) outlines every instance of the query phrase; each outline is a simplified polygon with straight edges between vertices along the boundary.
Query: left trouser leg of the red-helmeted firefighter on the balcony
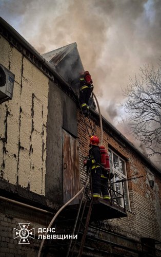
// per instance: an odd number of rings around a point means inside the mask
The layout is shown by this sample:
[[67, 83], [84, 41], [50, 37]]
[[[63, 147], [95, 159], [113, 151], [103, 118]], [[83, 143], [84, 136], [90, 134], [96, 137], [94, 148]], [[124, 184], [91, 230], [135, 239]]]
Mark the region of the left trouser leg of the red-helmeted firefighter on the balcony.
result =
[[100, 175], [101, 175], [101, 169], [99, 167], [94, 170], [91, 170], [93, 197], [100, 197], [100, 190], [101, 190]]

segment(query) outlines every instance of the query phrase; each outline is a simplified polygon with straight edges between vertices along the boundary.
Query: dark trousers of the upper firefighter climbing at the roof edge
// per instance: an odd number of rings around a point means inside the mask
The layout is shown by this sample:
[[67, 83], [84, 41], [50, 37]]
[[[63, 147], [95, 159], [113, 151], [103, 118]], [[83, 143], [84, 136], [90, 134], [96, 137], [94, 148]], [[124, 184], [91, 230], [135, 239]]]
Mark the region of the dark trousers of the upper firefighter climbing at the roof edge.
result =
[[91, 89], [89, 87], [86, 87], [79, 92], [79, 102], [81, 104], [83, 113], [87, 112], [89, 109], [90, 95]]

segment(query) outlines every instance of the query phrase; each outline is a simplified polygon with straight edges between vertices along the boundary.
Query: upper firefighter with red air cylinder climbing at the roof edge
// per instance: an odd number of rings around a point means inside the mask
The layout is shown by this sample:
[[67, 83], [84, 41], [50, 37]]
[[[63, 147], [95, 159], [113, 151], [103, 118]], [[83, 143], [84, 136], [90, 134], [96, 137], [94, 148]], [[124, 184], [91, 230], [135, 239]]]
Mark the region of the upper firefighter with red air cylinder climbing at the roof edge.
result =
[[81, 104], [82, 112], [85, 116], [89, 115], [89, 98], [93, 91], [93, 81], [89, 71], [80, 72], [79, 76], [79, 102]]

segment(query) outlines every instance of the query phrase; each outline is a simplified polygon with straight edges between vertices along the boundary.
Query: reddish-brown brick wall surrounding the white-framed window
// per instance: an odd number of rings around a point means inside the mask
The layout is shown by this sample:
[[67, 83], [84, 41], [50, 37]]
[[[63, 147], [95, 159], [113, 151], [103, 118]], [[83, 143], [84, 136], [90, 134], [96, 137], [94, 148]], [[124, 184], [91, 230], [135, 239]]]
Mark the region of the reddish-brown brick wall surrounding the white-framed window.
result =
[[[92, 135], [88, 118], [85, 118], [89, 133]], [[100, 137], [99, 119], [91, 119], [93, 132]], [[105, 132], [106, 131], [106, 132]], [[78, 111], [78, 140], [79, 140], [79, 156], [81, 183], [84, 185], [86, 172], [83, 168], [83, 159], [88, 155], [89, 135], [83, 119]], [[104, 127], [103, 145], [112, 147], [120, 157], [126, 160], [127, 176], [142, 176], [136, 180], [128, 181], [131, 211], [127, 211], [128, 216], [124, 218], [111, 219], [104, 222], [107, 228], [130, 238], [137, 239], [139, 237], [152, 237], [161, 241], [161, 203], [160, 189], [161, 178], [155, 172], [150, 171], [147, 164], [139, 157], [134, 150], [110, 131], [110, 128]], [[150, 188], [149, 180], [154, 179], [154, 188]]]

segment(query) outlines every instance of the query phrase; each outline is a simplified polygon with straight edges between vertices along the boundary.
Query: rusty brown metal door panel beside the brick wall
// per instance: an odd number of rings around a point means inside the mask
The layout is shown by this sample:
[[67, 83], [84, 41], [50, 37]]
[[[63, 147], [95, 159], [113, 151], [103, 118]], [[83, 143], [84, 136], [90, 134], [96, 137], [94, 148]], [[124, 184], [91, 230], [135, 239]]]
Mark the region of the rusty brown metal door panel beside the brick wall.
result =
[[[63, 200], [64, 204], [80, 190], [78, 141], [63, 130]], [[78, 204], [75, 199], [71, 204]]]

